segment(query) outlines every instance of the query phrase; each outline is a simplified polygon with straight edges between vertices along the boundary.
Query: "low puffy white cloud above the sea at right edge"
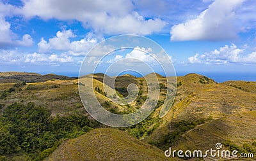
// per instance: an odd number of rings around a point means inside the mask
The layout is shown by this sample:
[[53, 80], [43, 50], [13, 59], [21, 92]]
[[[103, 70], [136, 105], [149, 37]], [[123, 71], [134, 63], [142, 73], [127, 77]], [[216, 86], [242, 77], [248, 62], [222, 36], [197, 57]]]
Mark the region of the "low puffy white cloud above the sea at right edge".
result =
[[246, 48], [237, 48], [236, 45], [225, 45], [219, 50], [215, 49], [202, 55], [196, 53], [193, 57], [189, 57], [191, 64], [227, 64], [227, 63], [256, 63], [256, 52], [246, 55]]

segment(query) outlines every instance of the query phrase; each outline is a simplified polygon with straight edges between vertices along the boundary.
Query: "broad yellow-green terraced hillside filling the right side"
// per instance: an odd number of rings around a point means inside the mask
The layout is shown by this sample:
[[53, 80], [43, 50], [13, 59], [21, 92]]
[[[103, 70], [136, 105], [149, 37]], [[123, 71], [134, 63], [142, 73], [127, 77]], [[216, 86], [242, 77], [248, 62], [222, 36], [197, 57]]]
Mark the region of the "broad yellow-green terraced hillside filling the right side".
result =
[[163, 150], [210, 149], [231, 140], [252, 146], [256, 131], [255, 82], [216, 83], [199, 74], [177, 79], [177, 96], [163, 123], [145, 141]]

